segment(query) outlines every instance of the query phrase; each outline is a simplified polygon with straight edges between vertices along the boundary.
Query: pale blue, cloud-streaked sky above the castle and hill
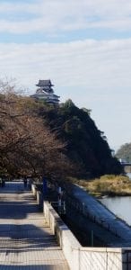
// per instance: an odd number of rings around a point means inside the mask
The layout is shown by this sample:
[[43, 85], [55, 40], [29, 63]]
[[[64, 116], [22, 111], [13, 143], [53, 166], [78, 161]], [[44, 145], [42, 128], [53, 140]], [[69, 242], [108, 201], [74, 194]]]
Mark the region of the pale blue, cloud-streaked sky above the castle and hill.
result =
[[110, 148], [131, 142], [131, 1], [0, 1], [0, 78], [92, 109]]

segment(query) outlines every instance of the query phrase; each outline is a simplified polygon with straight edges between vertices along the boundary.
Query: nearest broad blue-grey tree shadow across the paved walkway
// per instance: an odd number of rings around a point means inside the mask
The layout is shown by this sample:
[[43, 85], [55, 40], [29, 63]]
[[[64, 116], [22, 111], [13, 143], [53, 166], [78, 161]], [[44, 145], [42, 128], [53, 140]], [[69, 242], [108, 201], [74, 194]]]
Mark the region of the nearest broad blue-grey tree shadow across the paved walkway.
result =
[[9, 253], [39, 251], [48, 247], [49, 250], [57, 247], [57, 241], [44, 229], [39, 229], [31, 224], [3, 224], [0, 226], [0, 254], [2, 252], [8, 255]]

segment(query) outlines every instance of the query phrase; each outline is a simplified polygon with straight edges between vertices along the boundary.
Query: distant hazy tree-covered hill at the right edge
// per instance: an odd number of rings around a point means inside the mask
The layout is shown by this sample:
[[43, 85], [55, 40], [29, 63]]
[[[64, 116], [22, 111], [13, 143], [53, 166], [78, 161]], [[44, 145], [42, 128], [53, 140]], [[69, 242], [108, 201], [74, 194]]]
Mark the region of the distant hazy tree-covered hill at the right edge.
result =
[[124, 161], [131, 162], [131, 143], [122, 145], [118, 149], [116, 157], [121, 158]]

